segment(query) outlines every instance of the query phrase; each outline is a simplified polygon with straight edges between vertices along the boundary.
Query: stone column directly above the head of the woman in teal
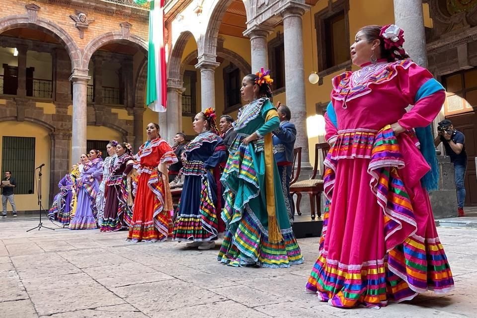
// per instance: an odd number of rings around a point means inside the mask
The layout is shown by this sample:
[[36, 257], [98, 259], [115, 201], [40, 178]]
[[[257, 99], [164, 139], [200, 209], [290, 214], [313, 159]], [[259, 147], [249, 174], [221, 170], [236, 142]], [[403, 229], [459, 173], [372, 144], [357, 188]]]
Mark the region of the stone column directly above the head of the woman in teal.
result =
[[243, 35], [250, 38], [252, 73], [258, 72], [260, 68], [268, 70], [268, 35], [271, 30], [264, 27], [254, 26], [243, 32]]

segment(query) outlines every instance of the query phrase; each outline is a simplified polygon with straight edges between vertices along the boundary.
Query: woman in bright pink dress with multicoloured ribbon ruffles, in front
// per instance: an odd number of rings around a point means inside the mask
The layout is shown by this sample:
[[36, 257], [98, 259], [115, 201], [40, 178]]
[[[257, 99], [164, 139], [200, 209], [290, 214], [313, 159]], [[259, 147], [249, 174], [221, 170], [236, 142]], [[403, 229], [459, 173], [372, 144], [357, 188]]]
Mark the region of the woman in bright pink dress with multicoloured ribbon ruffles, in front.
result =
[[307, 289], [335, 307], [381, 307], [454, 287], [426, 191], [436, 181], [428, 126], [444, 88], [408, 59], [403, 42], [395, 25], [363, 27], [350, 48], [361, 69], [333, 79], [328, 203]]

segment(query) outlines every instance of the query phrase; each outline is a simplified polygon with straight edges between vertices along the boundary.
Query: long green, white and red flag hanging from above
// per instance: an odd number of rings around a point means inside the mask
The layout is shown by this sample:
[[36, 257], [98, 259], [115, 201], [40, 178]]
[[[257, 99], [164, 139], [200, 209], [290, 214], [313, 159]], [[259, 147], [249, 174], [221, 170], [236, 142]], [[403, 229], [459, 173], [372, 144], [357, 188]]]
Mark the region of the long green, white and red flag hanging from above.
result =
[[134, 0], [137, 4], [149, 2], [149, 52], [146, 103], [156, 112], [166, 110], [167, 69], [164, 47], [165, 0]]

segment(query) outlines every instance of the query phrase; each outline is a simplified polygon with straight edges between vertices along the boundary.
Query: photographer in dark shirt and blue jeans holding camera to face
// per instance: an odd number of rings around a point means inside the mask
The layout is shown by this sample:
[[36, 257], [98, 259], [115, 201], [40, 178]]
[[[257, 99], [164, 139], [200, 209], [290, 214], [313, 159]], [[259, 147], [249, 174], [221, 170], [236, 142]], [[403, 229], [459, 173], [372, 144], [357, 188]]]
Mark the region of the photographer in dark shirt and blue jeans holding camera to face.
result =
[[437, 147], [442, 142], [446, 149], [446, 155], [454, 163], [457, 189], [457, 214], [460, 217], [464, 214], [464, 201], [466, 200], [466, 189], [464, 187], [464, 176], [467, 169], [467, 153], [465, 140], [466, 137], [460, 131], [454, 129], [449, 119], [439, 122], [437, 127], [438, 135], [434, 139], [434, 145]]

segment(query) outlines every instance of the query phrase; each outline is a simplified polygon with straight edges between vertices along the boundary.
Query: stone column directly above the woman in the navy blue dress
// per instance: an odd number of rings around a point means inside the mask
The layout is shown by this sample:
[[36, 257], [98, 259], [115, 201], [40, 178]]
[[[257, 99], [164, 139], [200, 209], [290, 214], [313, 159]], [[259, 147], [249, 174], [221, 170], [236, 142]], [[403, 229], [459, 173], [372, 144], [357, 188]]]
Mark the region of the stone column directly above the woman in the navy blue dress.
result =
[[220, 65], [216, 57], [199, 57], [195, 66], [200, 70], [200, 91], [202, 110], [215, 108], [215, 69]]

